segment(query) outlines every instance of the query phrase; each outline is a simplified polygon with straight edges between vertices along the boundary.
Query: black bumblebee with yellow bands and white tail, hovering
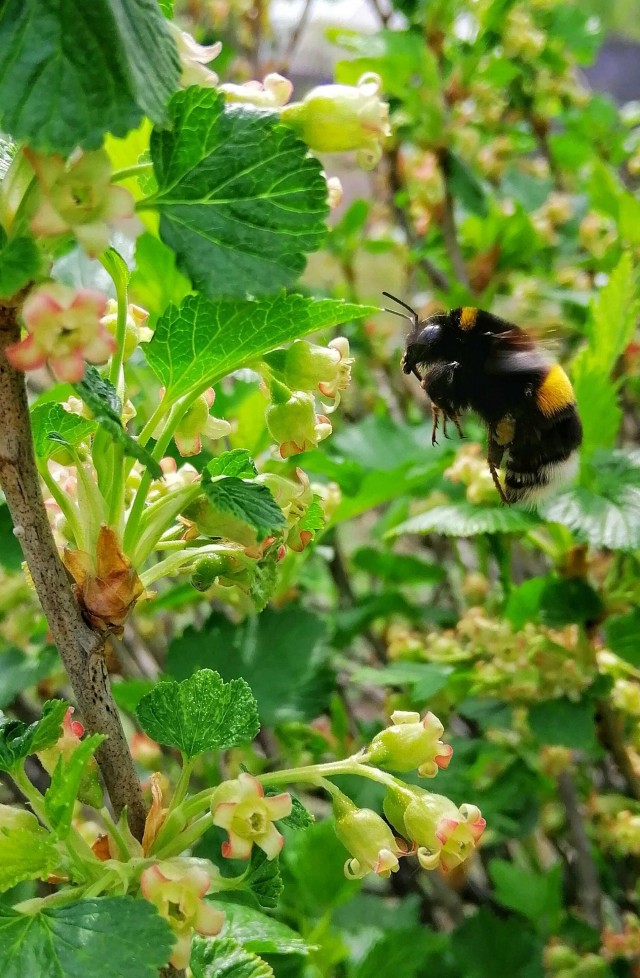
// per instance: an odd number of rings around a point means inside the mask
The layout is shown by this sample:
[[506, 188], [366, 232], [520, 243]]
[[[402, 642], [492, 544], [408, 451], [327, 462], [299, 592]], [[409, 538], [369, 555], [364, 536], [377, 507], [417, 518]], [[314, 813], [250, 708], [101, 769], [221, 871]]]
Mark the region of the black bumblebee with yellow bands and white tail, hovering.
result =
[[523, 329], [471, 306], [421, 321], [382, 294], [410, 314], [386, 310], [411, 323], [402, 369], [431, 401], [432, 445], [440, 418], [445, 437], [447, 421], [464, 437], [460, 415], [471, 409], [487, 426], [487, 462], [504, 503], [534, 506], [576, 475], [582, 424], [571, 382]]

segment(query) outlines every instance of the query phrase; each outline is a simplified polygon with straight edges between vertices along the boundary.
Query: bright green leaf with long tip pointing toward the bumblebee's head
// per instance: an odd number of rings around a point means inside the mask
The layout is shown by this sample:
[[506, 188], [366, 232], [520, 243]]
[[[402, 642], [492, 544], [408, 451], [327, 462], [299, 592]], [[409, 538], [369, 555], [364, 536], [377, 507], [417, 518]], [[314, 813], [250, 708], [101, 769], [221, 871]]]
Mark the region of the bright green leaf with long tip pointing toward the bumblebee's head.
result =
[[277, 295], [244, 302], [211, 302], [189, 295], [170, 306], [145, 349], [169, 402], [202, 393], [227, 374], [307, 333], [372, 315], [374, 306], [333, 299]]

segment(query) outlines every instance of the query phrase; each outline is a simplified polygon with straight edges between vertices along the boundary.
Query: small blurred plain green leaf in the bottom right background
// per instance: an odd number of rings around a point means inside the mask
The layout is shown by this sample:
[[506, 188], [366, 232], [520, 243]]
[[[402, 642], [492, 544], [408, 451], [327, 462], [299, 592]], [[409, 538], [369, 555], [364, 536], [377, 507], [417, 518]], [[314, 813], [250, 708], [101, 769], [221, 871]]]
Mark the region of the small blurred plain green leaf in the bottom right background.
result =
[[532, 873], [503, 859], [492, 859], [489, 875], [498, 903], [522, 914], [544, 933], [555, 930], [562, 909], [562, 867]]

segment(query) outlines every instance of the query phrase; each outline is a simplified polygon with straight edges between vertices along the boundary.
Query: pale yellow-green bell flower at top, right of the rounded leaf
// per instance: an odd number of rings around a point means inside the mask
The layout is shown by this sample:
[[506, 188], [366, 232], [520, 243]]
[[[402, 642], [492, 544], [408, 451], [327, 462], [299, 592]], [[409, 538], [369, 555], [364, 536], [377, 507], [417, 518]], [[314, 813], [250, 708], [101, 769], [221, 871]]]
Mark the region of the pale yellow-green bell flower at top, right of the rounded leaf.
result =
[[280, 118], [316, 153], [356, 150], [360, 166], [372, 167], [391, 134], [389, 106], [380, 98], [381, 79], [369, 72], [357, 85], [320, 85], [302, 102], [285, 105]]

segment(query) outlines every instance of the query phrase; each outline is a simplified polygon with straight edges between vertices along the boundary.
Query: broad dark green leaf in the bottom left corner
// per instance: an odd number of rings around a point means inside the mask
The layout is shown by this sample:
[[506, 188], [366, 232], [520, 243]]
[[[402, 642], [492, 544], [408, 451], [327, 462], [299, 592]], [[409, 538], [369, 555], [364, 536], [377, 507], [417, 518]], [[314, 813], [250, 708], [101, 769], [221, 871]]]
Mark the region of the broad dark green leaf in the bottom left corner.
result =
[[155, 907], [129, 896], [38, 914], [0, 909], [2, 978], [157, 978], [174, 943]]

